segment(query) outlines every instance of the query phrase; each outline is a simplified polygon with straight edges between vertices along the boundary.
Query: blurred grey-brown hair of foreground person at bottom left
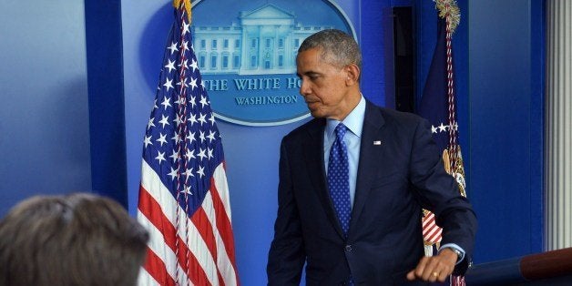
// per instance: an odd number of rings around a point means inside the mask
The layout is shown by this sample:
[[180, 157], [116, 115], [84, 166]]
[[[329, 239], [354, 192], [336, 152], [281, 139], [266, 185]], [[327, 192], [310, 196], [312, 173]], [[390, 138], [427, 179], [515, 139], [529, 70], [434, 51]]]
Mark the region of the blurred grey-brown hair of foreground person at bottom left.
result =
[[147, 241], [112, 199], [26, 199], [0, 221], [0, 285], [135, 285]]

